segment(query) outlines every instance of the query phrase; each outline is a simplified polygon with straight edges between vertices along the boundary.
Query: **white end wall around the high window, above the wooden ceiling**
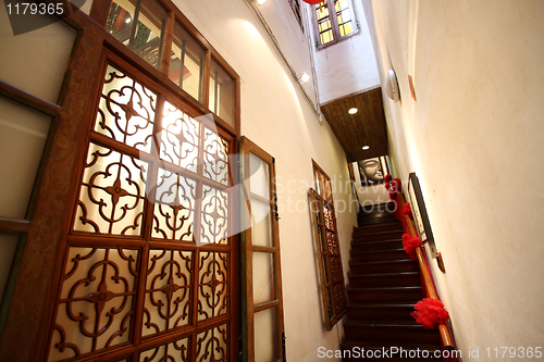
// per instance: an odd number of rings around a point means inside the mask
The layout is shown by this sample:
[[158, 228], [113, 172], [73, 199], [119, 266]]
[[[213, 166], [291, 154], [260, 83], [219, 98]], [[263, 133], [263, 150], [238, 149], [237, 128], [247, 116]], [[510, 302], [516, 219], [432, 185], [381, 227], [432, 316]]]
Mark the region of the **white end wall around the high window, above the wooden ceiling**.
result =
[[[354, 0], [359, 34], [314, 52], [321, 103], [374, 88], [380, 84], [367, 18], [360, 1]], [[311, 22], [311, 8], [308, 7]], [[311, 24], [311, 23], [310, 23]], [[316, 40], [313, 24], [310, 26]]]

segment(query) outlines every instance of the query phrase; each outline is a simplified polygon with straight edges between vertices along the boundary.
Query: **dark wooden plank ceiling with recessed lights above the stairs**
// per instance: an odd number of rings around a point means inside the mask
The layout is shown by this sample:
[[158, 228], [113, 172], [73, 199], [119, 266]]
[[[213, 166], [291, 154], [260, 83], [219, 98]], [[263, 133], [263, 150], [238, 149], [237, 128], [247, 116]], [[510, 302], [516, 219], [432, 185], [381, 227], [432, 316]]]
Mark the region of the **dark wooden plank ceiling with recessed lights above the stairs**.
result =
[[[349, 114], [351, 108], [358, 112]], [[321, 111], [346, 151], [348, 162], [388, 153], [381, 87], [323, 103]], [[363, 146], [370, 149], [364, 151]]]

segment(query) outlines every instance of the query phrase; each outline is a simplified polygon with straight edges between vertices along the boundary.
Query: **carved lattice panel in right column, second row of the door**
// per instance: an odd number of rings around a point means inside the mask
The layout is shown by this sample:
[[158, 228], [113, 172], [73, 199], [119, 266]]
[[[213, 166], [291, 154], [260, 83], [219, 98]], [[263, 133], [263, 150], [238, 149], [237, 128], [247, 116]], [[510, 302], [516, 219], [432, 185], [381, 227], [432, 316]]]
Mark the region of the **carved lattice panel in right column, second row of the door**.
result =
[[200, 217], [201, 244], [227, 244], [230, 194], [203, 185]]

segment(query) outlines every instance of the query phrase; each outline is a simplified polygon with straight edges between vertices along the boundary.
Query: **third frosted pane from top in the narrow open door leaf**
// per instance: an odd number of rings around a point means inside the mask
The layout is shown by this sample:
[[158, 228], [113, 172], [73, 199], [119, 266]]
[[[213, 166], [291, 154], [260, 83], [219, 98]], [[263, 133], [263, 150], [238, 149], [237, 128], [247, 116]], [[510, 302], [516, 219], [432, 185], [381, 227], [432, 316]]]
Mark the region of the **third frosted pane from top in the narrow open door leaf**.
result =
[[254, 251], [254, 304], [275, 299], [274, 254]]

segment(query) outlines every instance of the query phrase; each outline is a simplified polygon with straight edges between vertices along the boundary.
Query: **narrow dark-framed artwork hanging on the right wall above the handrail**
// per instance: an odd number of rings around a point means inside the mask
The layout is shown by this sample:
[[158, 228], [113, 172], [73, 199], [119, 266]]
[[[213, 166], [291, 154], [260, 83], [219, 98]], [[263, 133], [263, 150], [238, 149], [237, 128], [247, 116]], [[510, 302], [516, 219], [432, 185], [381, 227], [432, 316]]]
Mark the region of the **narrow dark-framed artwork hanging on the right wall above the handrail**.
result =
[[421, 192], [421, 186], [419, 185], [419, 179], [415, 172], [409, 175], [408, 198], [410, 200], [413, 221], [416, 228], [418, 229], [417, 232], [419, 237], [421, 238], [421, 241], [429, 242], [431, 255], [436, 258], [436, 246], [434, 244], [433, 230], [431, 229], [431, 223], [429, 222], [429, 215], [426, 213], [423, 194]]

